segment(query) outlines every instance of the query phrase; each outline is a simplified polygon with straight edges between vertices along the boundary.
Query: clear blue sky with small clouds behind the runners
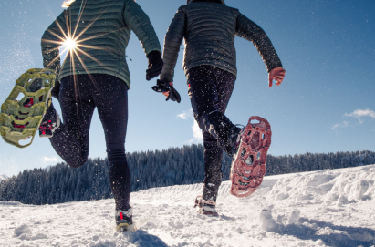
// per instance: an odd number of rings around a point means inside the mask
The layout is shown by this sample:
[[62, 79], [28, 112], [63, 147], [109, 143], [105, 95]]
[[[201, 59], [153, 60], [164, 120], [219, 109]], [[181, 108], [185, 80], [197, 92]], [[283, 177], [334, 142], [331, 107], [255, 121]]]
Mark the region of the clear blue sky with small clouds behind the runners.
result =
[[[62, 0], [0, 2], [0, 102], [27, 69], [42, 67], [40, 37], [63, 10]], [[138, 0], [163, 38], [184, 0]], [[266, 67], [255, 47], [236, 38], [238, 76], [227, 116], [245, 124], [261, 116], [272, 125], [270, 153], [375, 150], [374, 1], [226, 0], [264, 28], [286, 69], [280, 87], [267, 87]], [[202, 143], [194, 127], [182, 53], [174, 85], [182, 103], [165, 102], [145, 80], [147, 59], [133, 34], [127, 49], [129, 91], [128, 152]], [[97, 115], [90, 130], [89, 157], [105, 157]], [[46, 167], [61, 161], [47, 139], [26, 149], [0, 140], [0, 174]]]

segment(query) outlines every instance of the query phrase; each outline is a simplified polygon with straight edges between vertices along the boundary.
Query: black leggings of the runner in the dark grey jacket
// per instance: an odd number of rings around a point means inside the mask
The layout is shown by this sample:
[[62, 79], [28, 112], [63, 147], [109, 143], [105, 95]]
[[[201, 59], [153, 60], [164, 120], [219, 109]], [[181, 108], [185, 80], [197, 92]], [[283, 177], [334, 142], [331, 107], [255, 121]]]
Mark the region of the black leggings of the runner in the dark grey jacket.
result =
[[223, 149], [218, 140], [225, 139], [228, 129], [234, 127], [224, 113], [234, 89], [235, 76], [220, 68], [199, 66], [189, 69], [187, 78], [194, 118], [203, 130], [204, 184], [218, 187], [223, 176]]

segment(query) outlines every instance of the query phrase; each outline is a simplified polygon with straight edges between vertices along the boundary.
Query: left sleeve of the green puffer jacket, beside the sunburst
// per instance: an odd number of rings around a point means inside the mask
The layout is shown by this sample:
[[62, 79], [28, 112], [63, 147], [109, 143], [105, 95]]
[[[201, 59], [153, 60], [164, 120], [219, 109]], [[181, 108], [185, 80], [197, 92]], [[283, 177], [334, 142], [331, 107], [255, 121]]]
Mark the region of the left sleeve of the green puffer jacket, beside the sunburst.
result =
[[[60, 56], [59, 47], [67, 33], [68, 12], [64, 11], [57, 17], [57, 19], [48, 26], [47, 30], [42, 36], [42, 56], [43, 66], [56, 71], [58, 75], [60, 72]], [[58, 79], [58, 78], [57, 78]]]

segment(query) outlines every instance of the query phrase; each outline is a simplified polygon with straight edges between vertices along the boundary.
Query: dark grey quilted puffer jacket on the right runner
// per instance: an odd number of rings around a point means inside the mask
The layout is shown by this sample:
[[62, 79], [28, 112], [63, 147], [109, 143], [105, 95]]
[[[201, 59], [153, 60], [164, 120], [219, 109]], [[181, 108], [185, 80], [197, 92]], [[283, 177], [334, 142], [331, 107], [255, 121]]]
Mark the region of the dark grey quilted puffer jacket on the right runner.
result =
[[173, 81], [183, 38], [185, 73], [192, 67], [209, 65], [236, 76], [234, 36], [253, 42], [268, 71], [282, 67], [274, 46], [261, 27], [238, 9], [226, 6], [224, 0], [219, 0], [221, 4], [213, 1], [188, 0], [188, 4], [182, 5], [174, 15], [164, 40], [162, 80]]

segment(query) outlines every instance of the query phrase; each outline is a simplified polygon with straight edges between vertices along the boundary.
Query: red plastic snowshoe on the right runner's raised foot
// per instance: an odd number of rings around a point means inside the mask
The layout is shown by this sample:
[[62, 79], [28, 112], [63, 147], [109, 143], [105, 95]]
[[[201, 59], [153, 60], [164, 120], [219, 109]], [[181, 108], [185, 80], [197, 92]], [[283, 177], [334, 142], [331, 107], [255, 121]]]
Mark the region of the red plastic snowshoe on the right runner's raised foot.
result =
[[250, 196], [266, 174], [267, 151], [271, 145], [271, 126], [264, 118], [251, 117], [242, 131], [237, 153], [232, 161], [231, 194]]

